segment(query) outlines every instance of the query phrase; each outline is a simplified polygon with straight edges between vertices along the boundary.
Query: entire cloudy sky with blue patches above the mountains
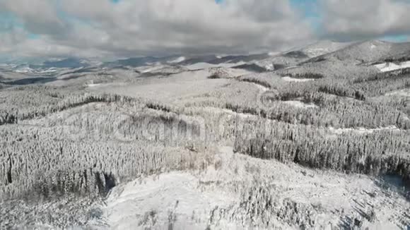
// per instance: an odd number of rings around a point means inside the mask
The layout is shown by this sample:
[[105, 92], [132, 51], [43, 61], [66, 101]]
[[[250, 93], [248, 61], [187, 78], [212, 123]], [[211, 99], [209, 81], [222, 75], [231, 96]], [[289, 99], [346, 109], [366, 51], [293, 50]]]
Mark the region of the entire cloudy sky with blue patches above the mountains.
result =
[[0, 0], [0, 56], [278, 51], [409, 40], [410, 0]]

